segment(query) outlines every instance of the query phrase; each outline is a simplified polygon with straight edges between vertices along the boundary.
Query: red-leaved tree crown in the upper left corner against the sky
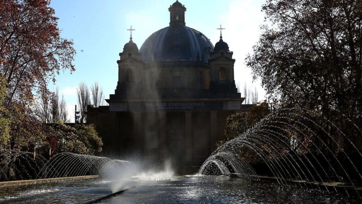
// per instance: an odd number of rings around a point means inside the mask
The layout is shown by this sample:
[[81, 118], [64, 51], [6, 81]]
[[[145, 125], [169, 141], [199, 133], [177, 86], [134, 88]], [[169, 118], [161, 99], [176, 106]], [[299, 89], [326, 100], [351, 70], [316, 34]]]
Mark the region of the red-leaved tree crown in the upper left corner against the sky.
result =
[[74, 71], [73, 42], [60, 37], [50, 0], [0, 0], [0, 72], [6, 104], [29, 104], [60, 70]]

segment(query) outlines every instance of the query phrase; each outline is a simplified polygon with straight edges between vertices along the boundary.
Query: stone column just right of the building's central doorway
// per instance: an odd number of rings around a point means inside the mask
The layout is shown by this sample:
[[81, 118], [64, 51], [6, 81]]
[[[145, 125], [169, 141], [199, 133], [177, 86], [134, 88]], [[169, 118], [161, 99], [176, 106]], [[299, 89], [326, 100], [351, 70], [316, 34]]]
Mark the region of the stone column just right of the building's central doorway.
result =
[[186, 165], [192, 163], [192, 112], [185, 111], [185, 162]]

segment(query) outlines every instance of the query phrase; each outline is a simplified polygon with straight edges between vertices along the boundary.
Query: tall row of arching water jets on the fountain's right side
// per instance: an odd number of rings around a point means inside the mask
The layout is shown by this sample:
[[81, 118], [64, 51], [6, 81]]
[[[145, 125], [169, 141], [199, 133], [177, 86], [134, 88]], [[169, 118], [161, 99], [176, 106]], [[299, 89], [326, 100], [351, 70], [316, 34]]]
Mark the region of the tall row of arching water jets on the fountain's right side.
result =
[[[345, 122], [361, 134], [349, 118]], [[347, 195], [353, 190], [359, 196], [357, 186], [362, 176], [361, 165], [356, 161], [362, 154], [352, 139], [341, 126], [313, 111], [280, 109], [218, 147], [203, 163], [199, 174], [268, 178], [281, 185], [344, 191]]]

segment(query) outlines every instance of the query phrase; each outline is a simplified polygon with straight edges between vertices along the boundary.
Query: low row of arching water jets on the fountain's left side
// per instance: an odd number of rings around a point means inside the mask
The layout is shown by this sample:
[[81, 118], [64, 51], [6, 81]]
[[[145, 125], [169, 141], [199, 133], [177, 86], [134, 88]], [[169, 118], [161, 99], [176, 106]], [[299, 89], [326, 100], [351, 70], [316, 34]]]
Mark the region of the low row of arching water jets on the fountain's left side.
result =
[[[126, 167], [135, 168], [134, 163], [112, 160], [107, 157], [81, 155], [63, 152], [49, 160], [34, 153], [3, 150], [0, 154], [0, 180], [43, 180], [60, 178], [98, 176], [104, 178], [109, 172]], [[10, 175], [9, 175], [10, 173]]]

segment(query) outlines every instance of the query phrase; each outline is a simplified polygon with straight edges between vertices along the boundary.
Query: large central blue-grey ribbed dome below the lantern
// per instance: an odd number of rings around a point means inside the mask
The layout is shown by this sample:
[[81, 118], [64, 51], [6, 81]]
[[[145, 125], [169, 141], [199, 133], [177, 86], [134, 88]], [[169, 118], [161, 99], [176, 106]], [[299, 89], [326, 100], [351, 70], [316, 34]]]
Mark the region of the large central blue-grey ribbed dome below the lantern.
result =
[[172, 25], [153, 33], [140, 48], [143, 61], [207, 62], [214, 46], [201, 32], [183, 25]]

